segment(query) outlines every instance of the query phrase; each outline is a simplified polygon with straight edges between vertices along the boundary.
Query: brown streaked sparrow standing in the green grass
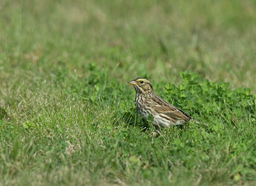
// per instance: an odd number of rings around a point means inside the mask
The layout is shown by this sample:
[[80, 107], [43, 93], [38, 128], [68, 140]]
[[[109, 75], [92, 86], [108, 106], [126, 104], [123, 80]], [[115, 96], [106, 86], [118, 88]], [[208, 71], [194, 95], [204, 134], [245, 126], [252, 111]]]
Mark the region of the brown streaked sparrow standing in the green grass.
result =
[[151, 114], [154, 117], [152, 123], [157, 129], [186, 124], [189, 120], [194, 120], [196, 124], [199, 124], [193, 117], [157, 96], [152, 83], [146, 78], [135, 78], [128, 83], [133, 85], [136, 90], [136, 109], [145, 120]]

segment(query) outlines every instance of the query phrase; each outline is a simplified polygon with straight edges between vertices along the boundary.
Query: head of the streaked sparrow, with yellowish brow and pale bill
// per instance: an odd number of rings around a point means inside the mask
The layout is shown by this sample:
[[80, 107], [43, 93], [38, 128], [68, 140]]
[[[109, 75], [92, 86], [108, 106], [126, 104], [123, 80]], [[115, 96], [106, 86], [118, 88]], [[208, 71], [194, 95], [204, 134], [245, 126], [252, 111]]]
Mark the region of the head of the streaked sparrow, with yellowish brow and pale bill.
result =
[[149, 93], [153, 92], [152, 83], [145, 78], [135, 78], [131, 82], [128, 82], [134, 86], [137, 93]]

